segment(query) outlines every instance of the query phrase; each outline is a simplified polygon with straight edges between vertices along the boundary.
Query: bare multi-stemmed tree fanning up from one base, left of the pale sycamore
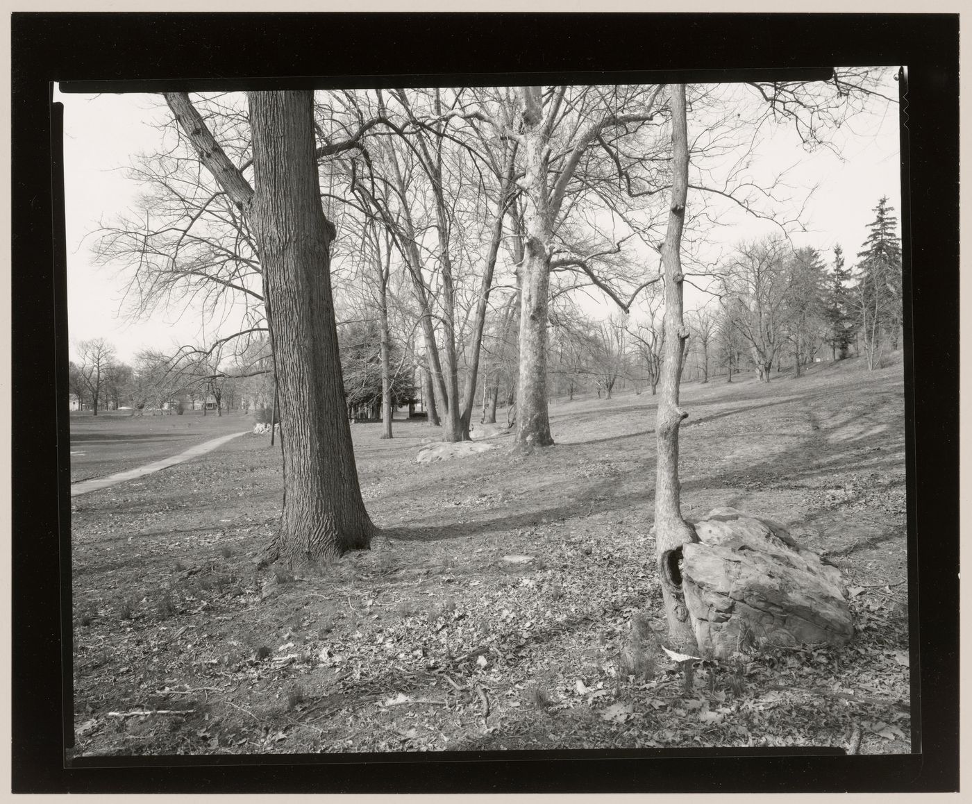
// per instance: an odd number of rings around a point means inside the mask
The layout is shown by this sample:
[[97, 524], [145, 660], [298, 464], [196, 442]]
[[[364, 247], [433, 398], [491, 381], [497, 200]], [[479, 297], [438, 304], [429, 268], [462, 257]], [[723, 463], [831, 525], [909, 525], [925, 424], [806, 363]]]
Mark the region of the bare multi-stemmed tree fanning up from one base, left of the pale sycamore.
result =
[[[360, 104], [365, 100], [356, 99], [362, 119]], [[396, 89], [390, 92], [388, 101], [379, 90], [376, 103], [378, 119], [396, 136], [378, 137], [376, 132], [369, 136], [376, 152], [367, 157], [370, 175], [356, 174], [354, 188], [392, 234], [411, 277], [443, 437], [468, 439], [482, 332], [512, 189], [515, 149], [506, 140], [490, 140], [472, 125], [474, 116], [462, 111], [462, 90], [406, 93]], [[375, 166], [381, 166], [387, 177], [377, 175]], [[471, 188], [476, 192], [470, 192]], [[430, 198], [432, 218], [426, 220]], [[495, 207], [487, 212], [484, 201], [491, 199]], [[480, 223], [484, 219], [488, 222], [485, 227]], [[427, 242], [429, 232], [434, 232], [432, 242]], [[478, 262], [473, 256], [477, 251], [482, 262], [478, 292], [470, 305], [469, 360], [465, 388], [460, 392], [464, 319], [463, 276], [458, 266]], [[457, 260], [459, 255], [472, 260]]]

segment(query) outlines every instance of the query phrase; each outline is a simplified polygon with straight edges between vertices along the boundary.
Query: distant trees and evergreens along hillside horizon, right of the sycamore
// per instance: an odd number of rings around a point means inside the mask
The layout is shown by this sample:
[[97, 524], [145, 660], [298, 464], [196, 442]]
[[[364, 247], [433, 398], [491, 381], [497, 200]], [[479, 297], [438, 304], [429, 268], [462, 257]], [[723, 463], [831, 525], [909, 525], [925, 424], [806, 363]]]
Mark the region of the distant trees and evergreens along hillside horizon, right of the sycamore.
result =
[[[880, 367], [901, 342], [901, 247], [886, 197], [874, 212], [852, 267], [840, 245], [828, 264], [782, 237], [740, 243], [713, 272], [714, 298], [686, 314], [684, 379], [732, 382], [755, 371], [769, 382], [783, 369], [799, 376], [816, 361], [851, 356]], [[666, 338], [661, 298], [647, 297], [640, 309], [605, 321], [576, 309], [552, 317], [551, 396], [610, 399], [619, 386], [654, 394]]]

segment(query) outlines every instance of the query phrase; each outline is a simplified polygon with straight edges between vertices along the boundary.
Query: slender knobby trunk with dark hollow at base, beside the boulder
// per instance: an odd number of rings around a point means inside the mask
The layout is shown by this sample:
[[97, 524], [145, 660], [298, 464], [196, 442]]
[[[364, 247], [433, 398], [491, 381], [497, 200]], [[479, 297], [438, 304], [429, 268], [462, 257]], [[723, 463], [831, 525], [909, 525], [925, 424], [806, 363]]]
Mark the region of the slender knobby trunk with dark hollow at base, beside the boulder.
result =
[[662, 364], [661, 395], [655, 430], [658, 444], [655, 485], [655, 554], [662, 596], [669, 626], [669, 647], [681, 653], [694, 653], [695, 635], [685, 608], [681, 588], [681, 547], [697, 542], [695, 531], [681, 516], [678, 481], [678, 428], [688, 413], [678, 406], [684, 343], [688, 331], [682, 319], [681, 232], [688, 192], [688, 135], [685, 122], [685, 87], [675, 84], [672, 92], [672, 205], [668, 231], [662, 246], [665, 274], [665, 361]]

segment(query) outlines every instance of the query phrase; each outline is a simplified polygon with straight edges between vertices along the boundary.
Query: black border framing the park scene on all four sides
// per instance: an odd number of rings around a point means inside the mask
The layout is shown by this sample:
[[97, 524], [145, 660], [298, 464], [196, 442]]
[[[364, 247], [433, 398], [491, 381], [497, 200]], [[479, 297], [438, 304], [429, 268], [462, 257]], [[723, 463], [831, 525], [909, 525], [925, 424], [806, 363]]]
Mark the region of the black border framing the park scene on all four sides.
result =
[[[71, 624], [67, 297], [52, 83], [77, 91], [614, 84], [648, 80], [649, 71], [653, 81], [699, 81], [727, 70], [858, 64], [907, 68], [901, 219], [915, 753], [251, 755], [156, 757], [152, 766], [152, 757], [114, 757], [112, 767], [65, 767], [73, 740], [63, 639]], [[957, 789], [957, 15], [19, 13], [12, 86], [15, 792]]]

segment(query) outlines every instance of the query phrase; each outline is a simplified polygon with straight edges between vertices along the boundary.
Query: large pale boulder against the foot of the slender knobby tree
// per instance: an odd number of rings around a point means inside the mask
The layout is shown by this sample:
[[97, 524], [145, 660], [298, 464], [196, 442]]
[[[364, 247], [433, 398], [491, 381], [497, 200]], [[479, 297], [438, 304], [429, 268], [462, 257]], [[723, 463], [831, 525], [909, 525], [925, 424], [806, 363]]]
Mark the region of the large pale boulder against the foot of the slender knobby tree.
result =
[[682, 589], [702, 650], [753, 643], [844, 645], [853, 636], [840, 570], [801, 549], [772, 519], [714, 508], [682, 546]]

